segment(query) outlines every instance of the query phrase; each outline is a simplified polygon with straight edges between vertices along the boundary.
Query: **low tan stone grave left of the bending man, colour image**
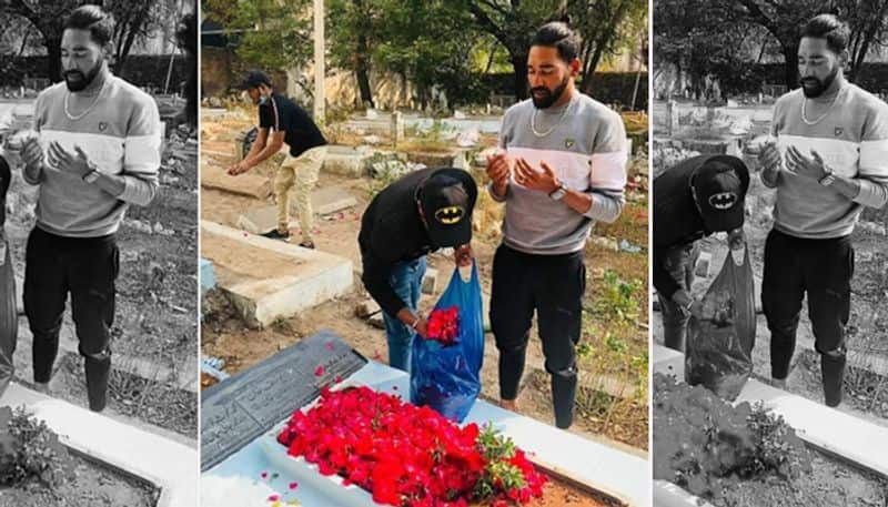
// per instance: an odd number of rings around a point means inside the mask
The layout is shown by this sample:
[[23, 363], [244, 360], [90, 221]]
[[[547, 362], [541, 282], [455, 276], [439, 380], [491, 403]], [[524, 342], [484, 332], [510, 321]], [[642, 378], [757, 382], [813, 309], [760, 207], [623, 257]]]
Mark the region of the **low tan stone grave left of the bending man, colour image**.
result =
[[201, 222], [201, 255], [248, 325], [290, 317], [352, 287], [352, 261]]

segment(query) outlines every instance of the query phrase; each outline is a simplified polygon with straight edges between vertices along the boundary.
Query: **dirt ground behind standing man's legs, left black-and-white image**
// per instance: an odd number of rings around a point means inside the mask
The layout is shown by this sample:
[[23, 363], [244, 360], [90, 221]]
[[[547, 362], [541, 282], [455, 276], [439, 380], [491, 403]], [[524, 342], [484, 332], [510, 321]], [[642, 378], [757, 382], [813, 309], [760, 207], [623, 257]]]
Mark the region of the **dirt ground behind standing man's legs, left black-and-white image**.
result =
[[[37, 190], [23, 183], [20, 171], [14, 174], [7, 197], [6, 233], [20, 292]], [[154, 201], [147, 207], [131, 206], [118, 232], [120, 275], [111, 329], [114, 373], [104, 414], [129, 424], [159, 426], [196, 442], [196, 395], [182, 389], [190, 382], [198, 383], [196, 143], [186, 132], [165, 140], [160, 182]], [[82, 359], [75, 354], [70, 302], [60, 342], [50, 392], [85, 407], [85, 381]], [[65, 353], [73, 357], [65, 359]], [[19, 382], [30, 384], [31, 334], [23, 315], [19, 318], [14, 364]], [[144, 382], [133, 388], [120, 382], [120, 373], [141, 376]], [[144, 410], [148, 405], [153, 409]]]

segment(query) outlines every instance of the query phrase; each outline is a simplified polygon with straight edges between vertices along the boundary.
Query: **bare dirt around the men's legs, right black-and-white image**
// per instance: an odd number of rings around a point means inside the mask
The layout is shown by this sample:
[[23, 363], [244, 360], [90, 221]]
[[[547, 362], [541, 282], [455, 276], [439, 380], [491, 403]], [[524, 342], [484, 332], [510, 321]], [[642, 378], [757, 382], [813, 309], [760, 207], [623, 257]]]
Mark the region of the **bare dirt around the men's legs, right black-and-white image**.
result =
[[[767, 112], [756, 111], [754, 131], [749, 135], [760, 134], [768, 128], [767, 122], [758, 121], [759, 116], [766, 116]], [[750, 168], [757, 166], [753, 158], [746, 158], [745, 161]], [[654, 173], [664, 168], [655, 168]], [[747, 194], [745, 233], [753, 271], [757, 278], [755, 296], [759, 308], [759, 281], [764, 267], [765, 240], [773, 225], [774, 199], [774, 191], [766, 189], [758, 175], [753, 174]], [[849, 368], [845, 379], [845, 400], [840, 407], [857, 417], [880, 425], [888, 425], [888, 312], [885, 311], [885, 297], [888, 296], [888, 253], [885, 251], [886, 236], [877, 227], [886, 225], [888, 225], [888, 209], [865, 210], [861, 222], [851, 236], [856, 258], [851, 280], [851, 314], [847, 327]], [[712, 254], [712, 262], [708, 276], [698, 276], [694, 285], [694, 294], [697, 296], [706, 292], [727, 255], [724, 237], [703, 240], [702, 246], [704, 252]], [[662, 315], [658, 312], [654, 315], [654, 339], [662, 344]], [[770, 332], [759, 310], [753, 361], [754, 375], [764, 381], [770, 378], [769, 339]], [[823, 402], [820, 361], [814, 349], [814, 342], [807, 303], [804, 303], [787, 389], [806, 398]], [[865, 365], [865, 362], [870, 365]]]

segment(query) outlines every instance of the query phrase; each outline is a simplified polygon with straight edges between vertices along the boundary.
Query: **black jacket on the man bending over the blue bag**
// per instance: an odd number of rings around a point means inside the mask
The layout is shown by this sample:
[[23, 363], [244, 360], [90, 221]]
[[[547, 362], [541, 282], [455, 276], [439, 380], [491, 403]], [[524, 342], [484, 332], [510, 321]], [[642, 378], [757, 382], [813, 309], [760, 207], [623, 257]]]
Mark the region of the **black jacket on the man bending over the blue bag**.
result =
[[389, 282], [394, 265], [437, 250], [428, 239], [416, 204], [416, 190], [434, 171], [434, 168], [414, 171], [386, 186], [373, 197], [361, 220], [357, 235], [364, 268], [361, 281], [390, 315], [407, 306]]

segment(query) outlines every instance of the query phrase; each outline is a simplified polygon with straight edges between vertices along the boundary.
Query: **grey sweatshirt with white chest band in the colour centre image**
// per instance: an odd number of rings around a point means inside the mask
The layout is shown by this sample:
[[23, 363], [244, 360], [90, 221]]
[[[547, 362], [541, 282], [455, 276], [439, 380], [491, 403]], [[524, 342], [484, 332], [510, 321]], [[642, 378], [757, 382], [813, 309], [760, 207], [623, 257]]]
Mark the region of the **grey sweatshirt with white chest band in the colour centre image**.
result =
[[614, 222], [619, 216], [628, 160], [626, 130], [619, 114], [601, 102], [578, 91], [562, 108], [537, 110], [531, 100], [519, 102], [503, 118], [500, 148], [513, 166], [515, 159], [524, 158], [542, 171], [539, 161], [545, 161], [565, 186], [592, 195], [592, 207], [581, 214], [564, 201], [517, 184], [513, 170], [505, 199], [491, 192], [494, 200], [505, 201], [503, 241], [509, 247], [539, 255], [578, 252], [595, 221]]

